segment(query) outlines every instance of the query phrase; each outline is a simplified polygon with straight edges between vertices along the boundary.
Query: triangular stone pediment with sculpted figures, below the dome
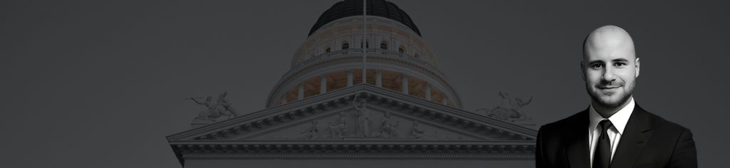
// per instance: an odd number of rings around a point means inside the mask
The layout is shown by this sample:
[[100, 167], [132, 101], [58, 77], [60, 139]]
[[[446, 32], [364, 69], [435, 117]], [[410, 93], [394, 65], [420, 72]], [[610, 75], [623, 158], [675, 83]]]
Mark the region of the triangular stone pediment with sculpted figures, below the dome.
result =
[[534, 141], [536, 134], [417, 97], [355, 85], [183, 131], [168, 140], [525, 142]]

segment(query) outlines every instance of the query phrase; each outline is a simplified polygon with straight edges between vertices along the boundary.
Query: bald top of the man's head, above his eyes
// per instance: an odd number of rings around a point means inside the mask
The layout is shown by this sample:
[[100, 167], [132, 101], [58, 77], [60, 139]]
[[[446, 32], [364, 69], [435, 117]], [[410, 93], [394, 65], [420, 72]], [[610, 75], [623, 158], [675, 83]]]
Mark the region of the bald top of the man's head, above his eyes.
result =
[[634, 41], [629, 32], [618, 26], [602, 26], [593, 30], [583, 42], [583, 60], [590, 55], [624, 55], [636, 58]]

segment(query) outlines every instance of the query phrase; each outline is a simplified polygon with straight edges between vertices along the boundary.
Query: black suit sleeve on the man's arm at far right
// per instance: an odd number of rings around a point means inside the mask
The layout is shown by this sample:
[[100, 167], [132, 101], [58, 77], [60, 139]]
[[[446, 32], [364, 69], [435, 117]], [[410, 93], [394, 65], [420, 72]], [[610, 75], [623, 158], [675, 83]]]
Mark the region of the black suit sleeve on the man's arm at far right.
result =
[[673, 168], [696, 168], [697, 150], [692, 140], [692, 131], [684, 129], [677, 138], [675, 149], [672, 152], [672, 159], [669, 160], [669, 167]]

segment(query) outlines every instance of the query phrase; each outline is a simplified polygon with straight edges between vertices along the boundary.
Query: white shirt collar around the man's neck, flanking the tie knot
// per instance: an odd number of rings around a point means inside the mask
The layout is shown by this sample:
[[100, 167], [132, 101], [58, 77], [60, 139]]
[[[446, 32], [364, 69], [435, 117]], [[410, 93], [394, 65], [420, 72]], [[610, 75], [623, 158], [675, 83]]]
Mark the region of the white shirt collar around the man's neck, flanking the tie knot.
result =
[[[629, 117], [631, 117], [631, 113], [634, 112], [634, 97], [630, 97], [631, 102], [629, 104], [626, 104], [621, 110], [618, 110], [618, 112], [611, 115], [608, 120], [613, 123], [613, 126], [616, 128], [616, 131], [618, 131], [618, 134], [623, 134], [623, 129], [626, 128], [626, 123], [629, 122]], [[593, 104], [588, 107], [588, 116], [590, 118], [590, 127], [588, 127], [588, 130], [590, 132], [593, 132], [593, 129], [596, 129], [596, 126], [598, 126], [598, 123], [602, 121], [604, 118], [596, 112], [596, 109], [593, 109]]]

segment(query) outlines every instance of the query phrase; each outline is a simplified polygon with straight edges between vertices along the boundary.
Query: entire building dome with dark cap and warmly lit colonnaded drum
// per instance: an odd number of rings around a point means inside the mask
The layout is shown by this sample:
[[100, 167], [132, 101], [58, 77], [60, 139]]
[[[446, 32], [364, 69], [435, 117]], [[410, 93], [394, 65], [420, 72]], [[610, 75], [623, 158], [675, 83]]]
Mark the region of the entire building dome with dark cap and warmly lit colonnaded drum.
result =
[[410, 16], [384, 0], [368, 0], [368, 15], [363, 16], [362, 4], [340, 1], [320, 16], [293, 54], [291, 69], [269, 93], [266, 107], [364, 84], [461, 108]]

